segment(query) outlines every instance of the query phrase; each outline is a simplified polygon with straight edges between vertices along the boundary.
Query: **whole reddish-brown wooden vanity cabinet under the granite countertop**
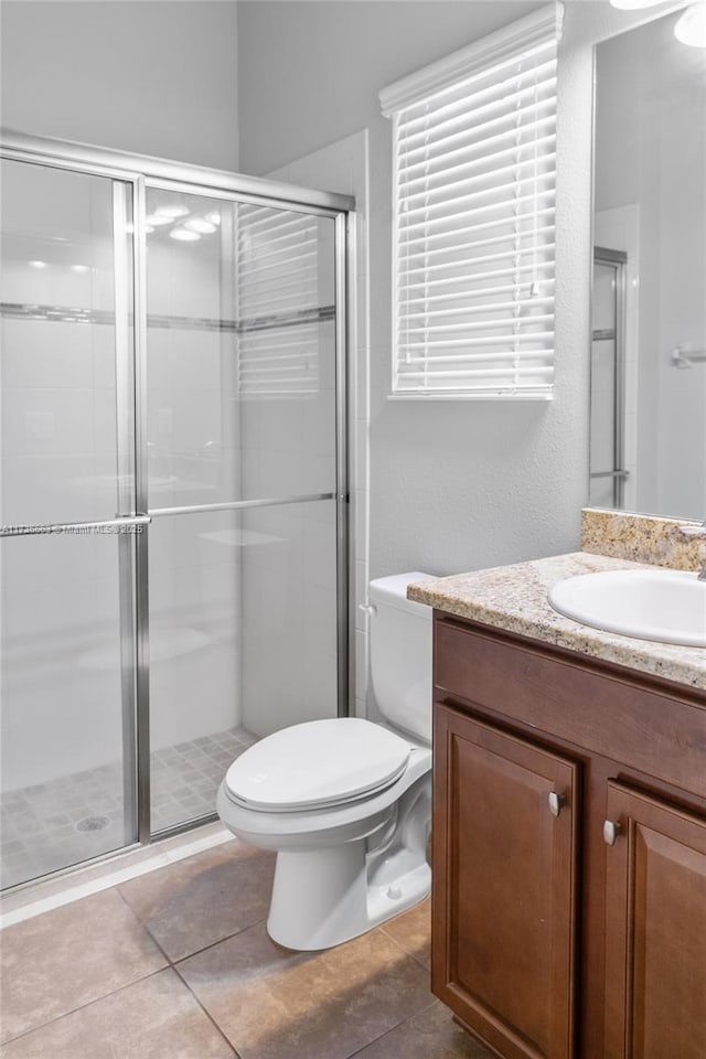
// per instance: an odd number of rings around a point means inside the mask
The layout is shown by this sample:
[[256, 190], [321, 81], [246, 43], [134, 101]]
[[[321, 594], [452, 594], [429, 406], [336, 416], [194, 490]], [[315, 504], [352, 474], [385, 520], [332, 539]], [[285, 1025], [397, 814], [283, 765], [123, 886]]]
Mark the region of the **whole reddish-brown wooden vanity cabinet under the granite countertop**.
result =
[[503, 1059], [706, 1056], [706, 695], [435, 614], [432, 990]]

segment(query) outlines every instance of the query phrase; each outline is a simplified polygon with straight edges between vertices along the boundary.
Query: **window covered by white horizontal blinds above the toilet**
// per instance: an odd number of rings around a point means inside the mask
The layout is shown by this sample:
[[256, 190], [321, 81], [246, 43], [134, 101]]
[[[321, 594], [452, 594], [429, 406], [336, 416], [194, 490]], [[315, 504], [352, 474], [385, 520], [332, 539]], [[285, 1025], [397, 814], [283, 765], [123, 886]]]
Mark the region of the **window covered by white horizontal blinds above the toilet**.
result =
[[381, 93], [393, 396], [552, 396], [560, 13], [549, 4]]

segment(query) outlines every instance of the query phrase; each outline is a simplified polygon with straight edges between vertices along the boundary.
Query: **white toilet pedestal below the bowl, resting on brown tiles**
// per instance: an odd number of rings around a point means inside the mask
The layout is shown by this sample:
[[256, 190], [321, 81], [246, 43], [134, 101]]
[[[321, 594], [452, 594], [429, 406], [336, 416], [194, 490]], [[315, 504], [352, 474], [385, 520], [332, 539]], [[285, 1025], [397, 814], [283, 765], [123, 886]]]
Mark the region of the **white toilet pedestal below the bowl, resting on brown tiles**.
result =
[[410, 851], [400, 849], [402, 874], [394, 870], [393, 854], [386, 862], [392, 881], [381, 885], [368, 881], [366, 852], [365, 838], [322, 849], [280, 852], [267, 920], [272, 941], [304, 952], [330, 949], [364, 934], [429, 894], [431, 871], [426, 860], [413, 865]]

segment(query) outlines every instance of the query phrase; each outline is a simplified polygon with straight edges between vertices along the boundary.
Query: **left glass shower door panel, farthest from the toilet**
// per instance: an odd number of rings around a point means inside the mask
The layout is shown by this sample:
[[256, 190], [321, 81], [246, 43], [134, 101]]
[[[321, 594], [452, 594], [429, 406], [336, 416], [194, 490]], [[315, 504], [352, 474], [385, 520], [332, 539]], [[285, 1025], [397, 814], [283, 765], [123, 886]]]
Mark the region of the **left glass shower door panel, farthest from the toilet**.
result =
[[2, 886], [137, 837], [132, 185], [3, 160]]

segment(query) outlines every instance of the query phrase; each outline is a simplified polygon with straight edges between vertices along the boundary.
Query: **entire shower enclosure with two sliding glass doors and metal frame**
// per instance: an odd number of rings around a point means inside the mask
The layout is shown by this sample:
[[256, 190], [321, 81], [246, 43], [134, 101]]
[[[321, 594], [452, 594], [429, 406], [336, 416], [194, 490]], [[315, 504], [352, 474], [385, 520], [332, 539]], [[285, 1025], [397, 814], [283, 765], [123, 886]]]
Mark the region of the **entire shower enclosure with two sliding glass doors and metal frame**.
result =
[[346, 712], [353, 203], [18, 135], [0, 164], [11, 887]]

